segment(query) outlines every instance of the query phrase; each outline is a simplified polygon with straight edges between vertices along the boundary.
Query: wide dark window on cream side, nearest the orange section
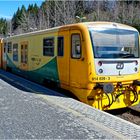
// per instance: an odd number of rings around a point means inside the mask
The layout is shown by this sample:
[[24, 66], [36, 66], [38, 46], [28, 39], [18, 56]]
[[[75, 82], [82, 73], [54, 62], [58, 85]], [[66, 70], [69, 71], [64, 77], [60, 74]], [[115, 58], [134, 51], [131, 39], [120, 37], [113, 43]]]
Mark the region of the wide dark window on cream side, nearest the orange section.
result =
[[43, 55], [54, 56], [54, 38], [43, 39]]

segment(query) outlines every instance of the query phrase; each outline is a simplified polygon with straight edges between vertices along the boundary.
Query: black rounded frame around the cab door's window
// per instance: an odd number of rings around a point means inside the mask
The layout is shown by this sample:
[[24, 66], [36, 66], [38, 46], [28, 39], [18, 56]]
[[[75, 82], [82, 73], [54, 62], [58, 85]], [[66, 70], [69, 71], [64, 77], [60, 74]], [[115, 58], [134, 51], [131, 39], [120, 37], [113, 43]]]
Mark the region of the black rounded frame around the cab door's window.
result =
[[[80, 41], [80, 43], [79, 43], [79, 47], [80, 47], [80, 53], [79, 54], [73, 54], [73, 37], [75, 36], [75, 35], [78, 35], [79, 36], [79, 41]], [[78, 47], [77, 46], [77, 47]], [[75, 48], [76, 48], [76, 46], [75, 46]], [[75, 56], [74, 56], [75, 55]], [[77, 56], [77, 55], [79, 55], [79, 56]], [[80, 59], [82, 57], [82, 42], [81, 42], [81, 35], [80, 35], [80, 33], [73, 33], [73, 34], [71, 34], [71, 58], [73, 58], [73, 59]]]

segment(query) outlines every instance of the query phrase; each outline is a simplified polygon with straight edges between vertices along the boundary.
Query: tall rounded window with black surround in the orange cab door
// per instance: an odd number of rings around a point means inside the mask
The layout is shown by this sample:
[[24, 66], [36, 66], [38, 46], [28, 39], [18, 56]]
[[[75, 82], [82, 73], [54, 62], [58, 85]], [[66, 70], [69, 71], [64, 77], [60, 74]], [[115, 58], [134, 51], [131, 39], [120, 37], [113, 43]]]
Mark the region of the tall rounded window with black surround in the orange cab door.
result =
[[71, 37], [71, 57], [75, 59], [81, 58], [81, 40], [80, 34], [72, 34]]

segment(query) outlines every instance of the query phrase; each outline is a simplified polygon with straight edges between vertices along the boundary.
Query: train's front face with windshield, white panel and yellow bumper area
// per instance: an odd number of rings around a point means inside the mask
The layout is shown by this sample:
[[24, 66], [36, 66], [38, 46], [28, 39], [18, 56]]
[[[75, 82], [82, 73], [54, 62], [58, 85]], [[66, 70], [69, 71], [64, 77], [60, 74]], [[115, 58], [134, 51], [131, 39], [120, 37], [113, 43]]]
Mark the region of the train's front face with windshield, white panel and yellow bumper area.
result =
[[93, 50], [93, 90], [88, 103], [101, 110], [140, 102], [139, 33], [122, 24], [89, 27]]

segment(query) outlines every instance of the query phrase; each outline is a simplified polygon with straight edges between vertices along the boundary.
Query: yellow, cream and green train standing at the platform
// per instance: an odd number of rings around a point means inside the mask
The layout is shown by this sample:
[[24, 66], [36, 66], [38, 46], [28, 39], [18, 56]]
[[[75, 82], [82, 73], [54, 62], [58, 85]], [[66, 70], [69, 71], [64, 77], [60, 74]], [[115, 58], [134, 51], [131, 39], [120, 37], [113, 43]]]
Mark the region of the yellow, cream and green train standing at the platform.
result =
[[4, 38], [0, 67], [101, 110], [140, 102], [139, 33], [127, 25], [87, 22]]

